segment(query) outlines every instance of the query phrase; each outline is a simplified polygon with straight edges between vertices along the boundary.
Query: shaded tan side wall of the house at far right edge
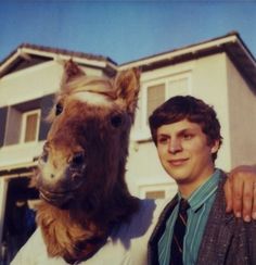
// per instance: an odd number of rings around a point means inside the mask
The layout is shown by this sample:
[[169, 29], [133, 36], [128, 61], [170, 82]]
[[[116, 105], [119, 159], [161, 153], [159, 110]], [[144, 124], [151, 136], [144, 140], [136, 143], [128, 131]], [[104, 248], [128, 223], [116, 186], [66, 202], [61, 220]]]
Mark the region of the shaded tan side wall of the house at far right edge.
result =
[[256, 88], [245, 83], [228, 59], [227, 68], [231, 165], [256, 164]]

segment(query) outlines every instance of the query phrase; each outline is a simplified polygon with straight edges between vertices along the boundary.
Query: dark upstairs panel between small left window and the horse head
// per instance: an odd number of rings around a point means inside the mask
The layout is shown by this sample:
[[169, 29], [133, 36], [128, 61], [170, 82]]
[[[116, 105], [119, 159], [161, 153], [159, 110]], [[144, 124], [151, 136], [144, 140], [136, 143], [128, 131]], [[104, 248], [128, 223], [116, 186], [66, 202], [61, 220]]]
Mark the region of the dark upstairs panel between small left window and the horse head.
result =
[[50, 124], [46, 121], [47, 115], [53, 106], [54, 94], [46, 96], [41, 99], [40, 109], [41, 109], [41, 118], [39, 127], [39, 141], [47, 139], [48, 130], [50, 129]]

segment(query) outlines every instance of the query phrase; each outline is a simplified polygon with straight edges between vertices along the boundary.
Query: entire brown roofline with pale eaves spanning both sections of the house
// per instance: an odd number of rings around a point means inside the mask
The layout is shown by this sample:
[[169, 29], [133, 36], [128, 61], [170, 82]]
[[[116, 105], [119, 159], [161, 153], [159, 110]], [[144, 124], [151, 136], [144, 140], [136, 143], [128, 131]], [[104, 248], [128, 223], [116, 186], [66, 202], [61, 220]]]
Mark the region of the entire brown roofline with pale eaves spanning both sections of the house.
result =
[[0, 63], [0, 77], [54, 59], [69, 60], [72, 58], [78, 64], [102, 68], [108, 76], [113, 76], [116, 71], [128, 67], [140, 67], [146, 72], [220, 52], [226, 52], [246, 81], [256, 87], [256, 60], [236, 31], [121, 65], [102, 55], [23, 43]]

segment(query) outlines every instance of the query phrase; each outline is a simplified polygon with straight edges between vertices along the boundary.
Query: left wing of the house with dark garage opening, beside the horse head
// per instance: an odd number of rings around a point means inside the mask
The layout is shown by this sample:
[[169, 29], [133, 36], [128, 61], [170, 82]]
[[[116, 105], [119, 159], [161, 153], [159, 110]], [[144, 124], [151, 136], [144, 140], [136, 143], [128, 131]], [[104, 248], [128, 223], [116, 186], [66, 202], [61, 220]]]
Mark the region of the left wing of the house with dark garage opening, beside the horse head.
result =
[[38, 192], [29, 187], [29, 177], [47, 137], [46, 116], [64, 62], [71, 58], [87, 75], [112, 77], [117, 72], [108, 58], [33, 45], [20, 46], [0, 65], [0, 242], [8, 244], [8, 251], [3, 243], [1, 248], [7, 263], [30, 232], [24, 218], [33, 215]]

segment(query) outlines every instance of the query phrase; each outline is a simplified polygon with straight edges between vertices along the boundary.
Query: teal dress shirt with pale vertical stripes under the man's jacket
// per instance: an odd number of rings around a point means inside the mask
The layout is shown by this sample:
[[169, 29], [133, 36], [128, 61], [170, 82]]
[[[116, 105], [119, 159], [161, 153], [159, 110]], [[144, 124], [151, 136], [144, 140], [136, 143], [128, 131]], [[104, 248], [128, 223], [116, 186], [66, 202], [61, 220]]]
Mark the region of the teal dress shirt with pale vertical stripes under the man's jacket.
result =
[[[188, 223], [183, 244], [184, 265], [193, 265], [196, 263], [204, 228], [218, 188], [219, 176], [220, 171], [216, 169], [213, 176], [188, 198], [190, 209], [188, 210]], [[178, 193], [178, 197], [180, 200], [180, 193]], [[175, 222], [178, 215], [178, 206], [179, 203], [169, 216], [165, 232], [158, 241], [158, 260], [161, 265], [169, 264], [170, 244]]]

